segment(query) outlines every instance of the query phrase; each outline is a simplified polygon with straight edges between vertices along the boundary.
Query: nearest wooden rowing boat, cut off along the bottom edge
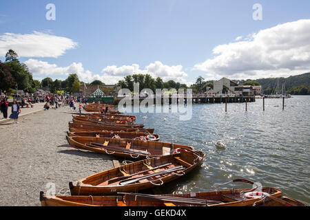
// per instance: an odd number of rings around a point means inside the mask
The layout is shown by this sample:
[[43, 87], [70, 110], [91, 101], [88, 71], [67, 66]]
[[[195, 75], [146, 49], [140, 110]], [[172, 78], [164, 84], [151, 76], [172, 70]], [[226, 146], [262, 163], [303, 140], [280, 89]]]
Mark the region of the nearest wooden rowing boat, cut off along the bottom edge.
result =
[[[249, 190], [251, 189], [170, 195], [118, 192], [118, 195], [110, 196], [45, 196], [44, 192], [40, 192], [40, 201], [42, 206], [253, 206], [260, 199], [243, 199], [240, 195], [240, 192]], [[276, 188], [263, 187], [262, 190], [275, 198], [282, 196], [282, 192]]]

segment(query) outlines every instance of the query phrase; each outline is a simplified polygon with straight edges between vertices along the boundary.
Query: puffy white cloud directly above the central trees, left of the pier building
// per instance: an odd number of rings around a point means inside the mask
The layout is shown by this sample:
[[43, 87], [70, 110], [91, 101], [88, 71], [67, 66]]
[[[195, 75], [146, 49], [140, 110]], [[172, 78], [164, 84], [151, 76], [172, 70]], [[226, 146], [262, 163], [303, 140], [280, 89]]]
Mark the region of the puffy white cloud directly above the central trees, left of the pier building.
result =
[[158, 76], [163, 78], [164, 81], [175, 80], [176, 82], [186, 83], [185, 77], [187, 74], [182, 71], [182, 65], [169, 66], [164, 65], [160, 61], [150, 63], [145, 69], [140, 69], [138, 64], [123, 65], [121, 67], [107, 66], [101, 73], [103, 78], [109, 80], [112, 83], [117, 83], [118, 80], [122, 80], [124, 76], [132, 74], [150, 74], [153, 78]]

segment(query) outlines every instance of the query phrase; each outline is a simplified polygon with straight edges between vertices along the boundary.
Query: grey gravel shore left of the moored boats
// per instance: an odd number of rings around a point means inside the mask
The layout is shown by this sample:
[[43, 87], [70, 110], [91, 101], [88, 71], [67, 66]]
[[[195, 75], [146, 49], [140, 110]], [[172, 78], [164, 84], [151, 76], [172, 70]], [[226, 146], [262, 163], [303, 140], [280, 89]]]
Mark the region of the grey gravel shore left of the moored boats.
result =
[[113, 168], [114, 157], [68, 145], [70, 120], [72, 112], [62, 107], [0, 124], [0, 206], [41, 206], [39, 192], [50, 183], [58, 193], [69, 181]]

